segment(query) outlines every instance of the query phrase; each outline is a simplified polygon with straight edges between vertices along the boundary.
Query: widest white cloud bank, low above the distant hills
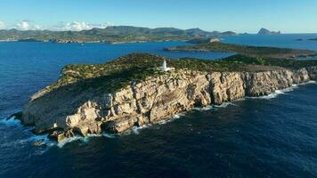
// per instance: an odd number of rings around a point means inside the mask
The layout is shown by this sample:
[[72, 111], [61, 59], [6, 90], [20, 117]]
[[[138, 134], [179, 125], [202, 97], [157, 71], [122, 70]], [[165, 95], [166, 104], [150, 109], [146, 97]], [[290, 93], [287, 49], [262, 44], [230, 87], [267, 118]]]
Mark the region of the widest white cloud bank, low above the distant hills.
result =
[[103, 23], [103, 24], [92, 24], [87, 23], [85, 21], [73, 21], [73, 22], [61, 22], [59, 25], [53, 26], [52, 30], [57, 31], [81, 31], [85, 29], [92, 29], [92, 28], [107, 28], [110, 26], [110, 23]]

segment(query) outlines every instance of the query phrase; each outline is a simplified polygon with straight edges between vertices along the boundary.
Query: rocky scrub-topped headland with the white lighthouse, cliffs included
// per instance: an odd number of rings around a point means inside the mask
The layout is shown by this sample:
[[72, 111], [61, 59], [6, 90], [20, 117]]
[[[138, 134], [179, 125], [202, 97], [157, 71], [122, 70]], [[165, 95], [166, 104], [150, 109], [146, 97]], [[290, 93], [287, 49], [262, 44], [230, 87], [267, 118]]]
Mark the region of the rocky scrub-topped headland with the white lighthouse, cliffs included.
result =
[[[162, 70], [160, 66], [163, 65]], [[57, 142], [119, 134], [193, 107], [262, 96], [317, 79], [317, 61], [234, 55], [220, 61], [132, 53], [104, 64], [68, 65], [35, 93], [21, 121]]]

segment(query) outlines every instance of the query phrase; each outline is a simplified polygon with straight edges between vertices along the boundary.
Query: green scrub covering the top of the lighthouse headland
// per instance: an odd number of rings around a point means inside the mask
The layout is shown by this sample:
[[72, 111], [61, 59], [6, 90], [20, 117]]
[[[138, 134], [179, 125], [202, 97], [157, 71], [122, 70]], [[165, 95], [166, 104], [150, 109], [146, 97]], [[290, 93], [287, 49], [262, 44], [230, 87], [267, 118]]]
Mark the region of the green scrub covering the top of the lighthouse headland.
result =
[[104, 64], [67, 65], [62, 69], [61, 78], [46, 88], [52, 91], [63, 85], [72, 85], [77, 91], [95, 89], [102, 93], [117, 91], [135, 81], [145, 80], [165, 74], [158, 67], [167, 60], [167, 65], [174, 67], [175, 72], [181, 69], [194, 71], [268, 71], [279, 69], [300, 69], [317, 66], [317, 61], [297, 61], [290, 59], [248, 57], [233, 55], [218, 61], [199, 60], [193, 58], [170, 59], [164, 56], [147, 53], [132, 53]]

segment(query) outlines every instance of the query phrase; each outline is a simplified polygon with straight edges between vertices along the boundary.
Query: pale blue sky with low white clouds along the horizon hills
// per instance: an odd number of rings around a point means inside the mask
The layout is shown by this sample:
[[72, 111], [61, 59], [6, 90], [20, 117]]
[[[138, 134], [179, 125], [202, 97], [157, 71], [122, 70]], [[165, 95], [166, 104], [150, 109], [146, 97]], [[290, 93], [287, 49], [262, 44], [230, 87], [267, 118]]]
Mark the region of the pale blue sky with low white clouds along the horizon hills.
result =
[[114, 25], [317, 33], [317, 0], [0, 0], [0, 28]]

